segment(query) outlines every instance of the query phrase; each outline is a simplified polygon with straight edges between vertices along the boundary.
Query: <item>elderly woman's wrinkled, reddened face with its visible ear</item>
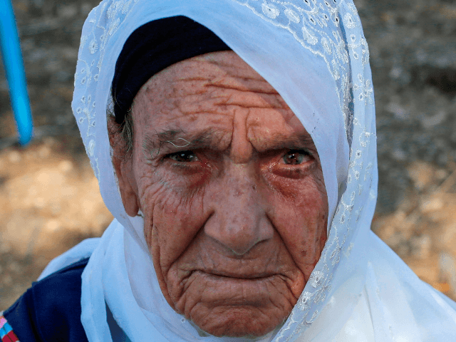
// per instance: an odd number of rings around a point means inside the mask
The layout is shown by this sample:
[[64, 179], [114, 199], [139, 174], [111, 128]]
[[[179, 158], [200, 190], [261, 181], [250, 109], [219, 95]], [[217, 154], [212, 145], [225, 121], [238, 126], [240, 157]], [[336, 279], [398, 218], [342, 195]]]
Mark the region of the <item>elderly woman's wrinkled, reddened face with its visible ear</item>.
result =
[[214, 336], [283, 323], [326, 242], [314, 142], [281, 96], [232, 51], [157, 73], [133, 103], [134, 145], [111, 137], [126, 212], [175, 311]]

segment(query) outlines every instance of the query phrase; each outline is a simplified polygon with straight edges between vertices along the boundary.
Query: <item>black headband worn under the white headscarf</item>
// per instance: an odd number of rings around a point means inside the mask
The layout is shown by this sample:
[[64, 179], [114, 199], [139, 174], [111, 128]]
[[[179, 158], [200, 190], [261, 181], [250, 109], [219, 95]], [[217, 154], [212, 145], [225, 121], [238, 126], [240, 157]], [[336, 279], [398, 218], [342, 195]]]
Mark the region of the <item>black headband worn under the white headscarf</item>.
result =
[[136, 93], [155, 73], [187, 58], [231, 50], [208, 28], [186, 16], [150, 21], [125, 42], [111, 86], [116, 123], [123, 123]]

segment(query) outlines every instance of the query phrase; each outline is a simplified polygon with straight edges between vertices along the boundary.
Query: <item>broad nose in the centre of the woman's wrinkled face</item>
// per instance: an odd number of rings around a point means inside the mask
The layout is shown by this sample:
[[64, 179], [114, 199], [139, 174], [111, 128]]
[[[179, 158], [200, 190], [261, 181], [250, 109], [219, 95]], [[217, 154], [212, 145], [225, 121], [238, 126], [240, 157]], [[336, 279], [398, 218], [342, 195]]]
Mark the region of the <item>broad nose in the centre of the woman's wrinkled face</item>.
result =
[[247, 254], [274, 235], [256, 185], [239, 178], [223, 182], [217, 195], [212, 197], [214, 214], [204, 225], [205, 234], [237, 256]]

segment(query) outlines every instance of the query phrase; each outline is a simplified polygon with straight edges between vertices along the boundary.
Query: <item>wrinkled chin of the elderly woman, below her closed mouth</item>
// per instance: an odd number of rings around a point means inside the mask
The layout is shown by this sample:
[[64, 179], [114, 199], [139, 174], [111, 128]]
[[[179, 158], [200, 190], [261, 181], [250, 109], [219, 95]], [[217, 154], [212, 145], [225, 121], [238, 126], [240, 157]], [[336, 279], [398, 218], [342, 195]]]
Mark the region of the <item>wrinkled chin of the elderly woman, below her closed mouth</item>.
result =
[[264, 336], [296, 304], [299, 294], [290, 283], [279, 275], [239, 279], [195, 271], [185, 286], [170, 284], [168, 290], [174, 309], [213, 336]]

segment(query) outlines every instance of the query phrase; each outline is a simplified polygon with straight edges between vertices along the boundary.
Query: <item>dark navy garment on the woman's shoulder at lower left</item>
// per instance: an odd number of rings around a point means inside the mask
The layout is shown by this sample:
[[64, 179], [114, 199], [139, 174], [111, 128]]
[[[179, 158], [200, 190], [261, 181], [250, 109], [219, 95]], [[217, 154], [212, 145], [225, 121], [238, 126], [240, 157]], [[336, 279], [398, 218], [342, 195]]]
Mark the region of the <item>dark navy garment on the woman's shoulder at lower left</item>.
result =
[[81, 323], [81, 274], [88, 259], [36, 281], [4, 316], [21, 342], [88, 341]]

